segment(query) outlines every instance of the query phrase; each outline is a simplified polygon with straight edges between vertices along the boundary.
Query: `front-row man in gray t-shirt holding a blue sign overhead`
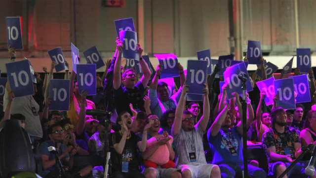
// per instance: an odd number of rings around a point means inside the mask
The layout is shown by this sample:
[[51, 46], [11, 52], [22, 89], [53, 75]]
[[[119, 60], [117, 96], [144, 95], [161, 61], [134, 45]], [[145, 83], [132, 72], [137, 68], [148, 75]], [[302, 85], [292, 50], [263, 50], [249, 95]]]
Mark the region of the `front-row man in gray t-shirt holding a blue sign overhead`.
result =
[[193, 114], [187, 110], [183, 111], [189, 87], [184, 86], [182, 88], [171, 129], [177, 155], [176, 167], [182, 168], [182, 176], [185, 178], [220, 178], [219, 167], [206, 163], [203, 150], [202, 136], [206, 132], [210, 113], [208, 87], [205, 85], [205, 88], [202, 89], [204, 93], [203, 116], [196, 125], [194, 125]]

